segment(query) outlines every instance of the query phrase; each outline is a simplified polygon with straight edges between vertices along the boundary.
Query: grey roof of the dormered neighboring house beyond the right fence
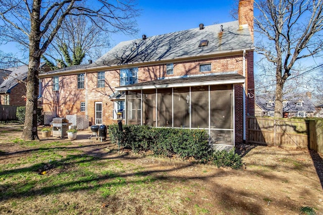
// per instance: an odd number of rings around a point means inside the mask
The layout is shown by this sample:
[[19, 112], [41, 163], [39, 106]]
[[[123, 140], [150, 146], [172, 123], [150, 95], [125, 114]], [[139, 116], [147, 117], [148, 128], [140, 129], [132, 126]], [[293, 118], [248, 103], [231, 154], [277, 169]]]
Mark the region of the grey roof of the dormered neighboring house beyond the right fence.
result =
[[[283, 108], [283, 112], [298, 112], [298, 111], [306, 111], [306, 112], [315, 112], [315, 105], [311, 101], [311, 99], [306, 96], [294, 96], [294, 95], [285, 95], [284, 99], [287, 101], [286, 106]], [[303, 104], [301, 107], [297, 107], [296, 103], [302, 100]], [[273, 101], [275, 102], [275, 97], [270, 95], [259, 95], [255, 98], [255, 103], [259, 105], [265, 111], [274, 111], [275, 104], [272, 107], [267, 107], [267, 102]]]

